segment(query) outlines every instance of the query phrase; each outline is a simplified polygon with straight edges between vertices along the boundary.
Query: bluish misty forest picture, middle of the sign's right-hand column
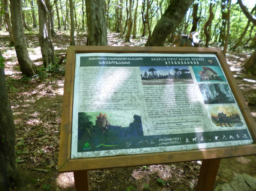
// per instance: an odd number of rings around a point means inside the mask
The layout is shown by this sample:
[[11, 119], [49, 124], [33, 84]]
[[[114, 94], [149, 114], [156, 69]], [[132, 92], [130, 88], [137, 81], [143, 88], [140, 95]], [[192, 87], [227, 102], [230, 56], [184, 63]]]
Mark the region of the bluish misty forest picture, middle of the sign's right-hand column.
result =
[[205, 104], [236, 103], [226, 83], [198, 84]]

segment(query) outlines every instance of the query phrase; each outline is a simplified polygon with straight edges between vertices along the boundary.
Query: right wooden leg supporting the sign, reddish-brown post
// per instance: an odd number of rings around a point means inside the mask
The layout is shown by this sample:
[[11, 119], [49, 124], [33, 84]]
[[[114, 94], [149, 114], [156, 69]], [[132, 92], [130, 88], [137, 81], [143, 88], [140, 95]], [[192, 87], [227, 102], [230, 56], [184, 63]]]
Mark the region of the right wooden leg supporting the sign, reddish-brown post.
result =
[[218, 173], [220, 159], [203, 160], [196, 191], [212, 191]]

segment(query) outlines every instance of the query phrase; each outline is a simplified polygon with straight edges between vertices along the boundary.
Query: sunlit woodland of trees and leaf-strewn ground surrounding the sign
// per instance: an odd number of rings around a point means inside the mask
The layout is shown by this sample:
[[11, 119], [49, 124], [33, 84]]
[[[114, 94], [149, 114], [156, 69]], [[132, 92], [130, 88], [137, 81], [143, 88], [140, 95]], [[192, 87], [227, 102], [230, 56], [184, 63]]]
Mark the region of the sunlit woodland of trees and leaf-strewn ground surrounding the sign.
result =
[[[0, 120], [0, 190], [75, 190], [73, 174], [56, 170], [69, 45], [172, 46], [174, 36], [200, 31], [201, 47], [226, 54], [255, 118], [256, 7], [238, 2], [0, 0], [0, 119], [8, 119]], [[200, 164], [90, 171], [90, 188], [194, 190]], [[255, 170], [255, 156], [222, 159], [215, 187]]]

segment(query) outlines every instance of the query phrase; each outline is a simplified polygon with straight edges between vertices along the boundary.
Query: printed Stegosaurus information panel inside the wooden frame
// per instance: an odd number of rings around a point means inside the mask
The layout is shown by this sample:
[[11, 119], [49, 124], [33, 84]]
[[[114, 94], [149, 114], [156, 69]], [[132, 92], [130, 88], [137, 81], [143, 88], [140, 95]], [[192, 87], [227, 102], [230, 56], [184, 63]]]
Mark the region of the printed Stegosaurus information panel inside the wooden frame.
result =
[[77, 53], [71, 158], [253, 143], [215, 54]]

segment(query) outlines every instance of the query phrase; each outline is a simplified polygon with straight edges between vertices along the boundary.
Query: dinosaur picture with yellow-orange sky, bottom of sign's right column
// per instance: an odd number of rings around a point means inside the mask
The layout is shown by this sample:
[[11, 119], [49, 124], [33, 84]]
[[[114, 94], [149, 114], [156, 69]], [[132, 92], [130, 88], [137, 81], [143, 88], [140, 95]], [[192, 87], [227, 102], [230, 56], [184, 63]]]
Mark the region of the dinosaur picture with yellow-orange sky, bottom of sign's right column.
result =
[[210, 109], [211, 120], [216, 125], [216, 127], [220, 128], [228, 128], [228, 127], [242, 127], [244, 124], [241, 121], [240, 114], [237, 108], [229, 106], [229, 107], [212, 107]]

